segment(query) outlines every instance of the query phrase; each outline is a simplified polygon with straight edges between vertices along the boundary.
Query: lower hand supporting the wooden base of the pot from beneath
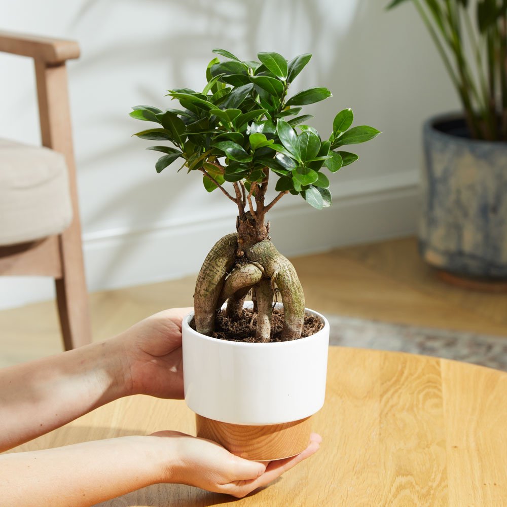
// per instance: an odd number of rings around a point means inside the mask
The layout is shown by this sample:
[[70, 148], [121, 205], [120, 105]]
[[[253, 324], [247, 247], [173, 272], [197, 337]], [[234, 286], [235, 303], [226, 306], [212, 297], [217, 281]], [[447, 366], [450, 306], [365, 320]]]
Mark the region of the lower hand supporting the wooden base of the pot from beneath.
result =
[[178, 431], [159, 431], [152, 436], [170, 440], [173, 459], [167, 465], [166, 482], [197, 486], [237, 498], [280, 477], [316, 452], [322, 441], [318, 434], [312, 433], [308, 447], [297, 456], [258, 462], [235, 456], [210, 440], [191, 437]]

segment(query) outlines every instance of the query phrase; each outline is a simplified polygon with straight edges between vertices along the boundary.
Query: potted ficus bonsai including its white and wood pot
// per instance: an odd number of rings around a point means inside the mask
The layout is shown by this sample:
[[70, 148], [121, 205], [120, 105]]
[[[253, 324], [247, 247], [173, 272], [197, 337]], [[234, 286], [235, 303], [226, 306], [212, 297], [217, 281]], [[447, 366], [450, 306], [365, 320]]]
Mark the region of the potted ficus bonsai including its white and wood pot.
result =
[[[171, 143], [149, 148], [164, 154], [155, 164], [157, 172], [180, 159], [179, 169], [202, 174], [207, 192], [219, 191], [234, 203], [236, 232], [216, 242], [204, 260], [195, 288], [194, 316], [183, 324], [185, 397], [198, 414], [198, 434], [251, 459], [267, 459], [265, 449], [245, 451], [244, 446], [236, 448], [234, 442], [224, 440], [223, 428], [214, 423], [235, 425], [236, 441], [239, 426], [269, 426], [269, 434], [293, 426], [297, 429], [293, 421], [306, 421], [323, 403], [329, 324], [327, 330], [318, 331], [317, 327], [312, 337], [301, 338], [303, 289], [293, 265], [271, 242], [266, 215], [287, 194], [301, 196], [316, 209], [330, 206], [328, 175], [358, 158], [341, 147], [368, 141], [379, 131], [369, 126], [351, 127], [350, 109], [336, 115], [326, 140], [306, 123], [312, 116], [300, 114], [302, 106], [331, 97], [331, 92], [321, 87], [288, 94], [289, 86], [310, 61], [310, 54], [287, 62], [273, 52], [259, 53], [259, 61], [242, 61], [222, 49], [213, 52], [225, 61], [214, 58], [208, 64], [202, 92], [172, 89], [167, 95], [179, 102], [179, 108], [162, 111], [139, 105], [133, 107], [130, 116], [158, 124], [136, 133], [137, 137]], [[277, 194], [267, 202], [268, 185], [273, 183]], [[283, 325], [278, 333], [271, 325], [275, 290], [283, 303]], [[249, 322], [254, 320], [251, 312], [243, 310], [250, 292], [257, 323], [246, 340], [259, 343], [213, 338], [213, 334], [218, 336], [215, 325], [219, 315], [233, 324], [245, 315]], [[221, 312], [225, 302], [227, 307]], [[281, 318], [281, 305], [278, 307], [274, 314]], [[327, 323], [316, 312], [308, 313], [317, 316], [319, 327]], [[315, 339], [317, 335], [322, 337], [320, 341]], [[270, 343], [273, 341], [278, 343]], [[314, 343], [319, 343], [316, 352], [312, 352]], [[228, 352], [224, 352], [226, 348]], [[312, 353], [315, 357], [307, 368], [305, 361]], [[230, 360], [226, 361], [226, 356]], [[292, 361], [292, 365], [287, 364], [288, 370], [284, 366], [287, 361]], [[312, 368], [316, 369], [313, 375]], [[302, 374], [302, 369], [309, 375]], [[272, 381], [279, 377], [278, 381], [268, 383], [260, 372], [271, 376]], [[302, 379], [306, 379], [306, 387]], [[312, 382], [317, 383], [318, 392], [312, 389]], [[291, 406], [286, 402], [289, 395]], [[311, 407], [304, 407], [305, 396]], [[251, 402], [248, 406], [245, 399]], [[255, 440], [251, 431], [247, 434], [250, 443]], [[294, 434], [288, 440], [294, 440]], [[299, 451], [293, 446], [289, 451], [277, 451], [276, 457], [287, 452]]]

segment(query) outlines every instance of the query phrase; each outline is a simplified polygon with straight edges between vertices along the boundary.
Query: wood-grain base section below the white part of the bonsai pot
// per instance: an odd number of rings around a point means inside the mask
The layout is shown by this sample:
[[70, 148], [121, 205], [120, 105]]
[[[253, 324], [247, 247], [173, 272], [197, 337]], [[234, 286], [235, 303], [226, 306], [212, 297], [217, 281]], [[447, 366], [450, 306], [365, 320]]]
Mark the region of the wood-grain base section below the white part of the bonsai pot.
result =
[[269, 426], [244, 426], [215, 421], [196, 414], [197, 436], [212, 440], [232, 454], [255, 461], [295, 456], [310, 442], [310, 417]]

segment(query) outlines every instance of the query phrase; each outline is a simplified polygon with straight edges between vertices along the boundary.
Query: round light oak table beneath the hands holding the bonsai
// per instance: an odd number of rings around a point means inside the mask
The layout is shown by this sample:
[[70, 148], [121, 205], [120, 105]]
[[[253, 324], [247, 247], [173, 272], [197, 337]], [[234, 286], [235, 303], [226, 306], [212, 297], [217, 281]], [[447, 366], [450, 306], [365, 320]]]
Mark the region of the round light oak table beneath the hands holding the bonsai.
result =
[[[23, 450], [162, 429], [192, 433], [183, 402], [118, 400]], [[507, 374], [444, 359], [331, 347], [317, 454], [241, 500], [161, 484], [102, 507], [507, 505]]]

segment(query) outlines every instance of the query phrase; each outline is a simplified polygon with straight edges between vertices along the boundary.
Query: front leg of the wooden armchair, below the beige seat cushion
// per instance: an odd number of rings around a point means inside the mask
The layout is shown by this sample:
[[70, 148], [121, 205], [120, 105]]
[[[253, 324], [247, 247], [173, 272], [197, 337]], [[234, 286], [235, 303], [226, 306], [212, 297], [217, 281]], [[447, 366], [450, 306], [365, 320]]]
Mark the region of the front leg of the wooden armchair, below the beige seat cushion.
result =
[[75, 237], [75, 233], [75, 228], [71, 226], [60, 236], [63, 276], [55, 280], [65, 350], [91, 343], [90, 312], [81, 237]]

